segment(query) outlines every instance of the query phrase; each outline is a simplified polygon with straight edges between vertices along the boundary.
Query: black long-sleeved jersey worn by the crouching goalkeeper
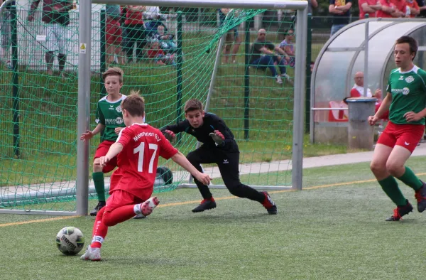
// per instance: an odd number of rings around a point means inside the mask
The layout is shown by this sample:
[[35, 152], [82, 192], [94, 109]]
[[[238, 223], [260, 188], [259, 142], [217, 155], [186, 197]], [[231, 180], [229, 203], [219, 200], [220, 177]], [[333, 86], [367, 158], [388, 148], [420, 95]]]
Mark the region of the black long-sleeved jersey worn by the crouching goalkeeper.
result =
[[[165, 130], [173, 131], [175, 134], [180, 132], [186, 132], [195, 136], [195, 138], [204, 144], [205, 147], [212, 149], [223, 149], [229, 152], [238, 152], [238, 145], [234, 139], [234, 134], [228, 126], [226, 126], [223, 119], [217, 117], [212, 113], [205, 113], [203, 118], [202, 126], [194, 128], [190, 125], [190, 122], [185, 119], [185, 121], [179, 122], [178, 124], [168, 125], [160, 129], [162, 132]], [[225, 137], [224, 145], [217, 146], [214, 143], [212, 137], [209, 136], [214, 130], [219, 130]]]

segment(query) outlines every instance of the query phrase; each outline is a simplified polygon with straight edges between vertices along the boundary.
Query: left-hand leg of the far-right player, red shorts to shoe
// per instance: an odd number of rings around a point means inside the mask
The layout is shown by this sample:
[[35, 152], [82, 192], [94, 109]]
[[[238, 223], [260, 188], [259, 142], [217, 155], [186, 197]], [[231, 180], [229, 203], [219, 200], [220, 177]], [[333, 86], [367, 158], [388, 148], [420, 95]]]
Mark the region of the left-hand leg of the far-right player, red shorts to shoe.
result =
[[391, 198], [393, 203], [397, 205], [397, 208], [393, 211], [393, 216], [387, 219], [389, 221], [400, 220], [400, 217], [407, 215], [413, 209], [410, 203], [408, 203], [408, 200], [404, 197], [403, 193], [401, 193], [395, 177], [388, 172], [386, 167], [388, 158], [396, 143], [394, 126], [395, 124], [392, 124], [391, 122], [389, 122], [388, 126], [386, 126], [386, 129], [377, 141], [373, 152], [373, 160], [370, 163], [371, 171], [376, 177], [379, 185], [381, 185], [381, 188], [386, 195]]

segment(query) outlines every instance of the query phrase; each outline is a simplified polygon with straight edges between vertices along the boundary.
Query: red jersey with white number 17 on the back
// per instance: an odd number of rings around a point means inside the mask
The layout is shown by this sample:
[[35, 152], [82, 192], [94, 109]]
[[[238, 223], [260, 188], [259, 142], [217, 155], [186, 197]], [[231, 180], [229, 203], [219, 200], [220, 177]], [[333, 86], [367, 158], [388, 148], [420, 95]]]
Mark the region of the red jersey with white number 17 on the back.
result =
[[178, 153], [160, 130], [148, 124], [132, 124], [122, 129], [117, 143], [123, 150], [117, 156], [119, 168], [112, 173], [110, 190], [125, 190], [143, 199], [154, 188], [158, 157], [171, 158]]

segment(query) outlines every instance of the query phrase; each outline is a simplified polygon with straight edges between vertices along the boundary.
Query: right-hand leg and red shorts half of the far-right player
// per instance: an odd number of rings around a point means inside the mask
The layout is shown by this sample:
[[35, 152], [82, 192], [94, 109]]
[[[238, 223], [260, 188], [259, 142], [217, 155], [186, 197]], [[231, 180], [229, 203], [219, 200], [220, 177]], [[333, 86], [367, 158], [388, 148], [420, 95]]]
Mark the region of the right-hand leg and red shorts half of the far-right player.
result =
[[386, 163], [386, 168], [391, 175], [403, 181], [405, 185], [415, 190], [417, 210], [426, 210], [426, 185], [415, 176], [413, 171], [405, 166], [417, 144], [423, 136], [424, 126], [415, 124], [400, 125], [398, 129], [398, 140]]

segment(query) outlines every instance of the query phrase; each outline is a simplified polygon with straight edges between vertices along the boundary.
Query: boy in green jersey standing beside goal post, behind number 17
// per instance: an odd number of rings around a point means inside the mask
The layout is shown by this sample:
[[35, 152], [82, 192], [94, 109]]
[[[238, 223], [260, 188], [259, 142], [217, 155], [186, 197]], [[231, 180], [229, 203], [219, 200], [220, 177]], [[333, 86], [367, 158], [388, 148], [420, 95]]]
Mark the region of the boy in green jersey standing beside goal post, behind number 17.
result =
[[99, 203], [90, 212], [91, 216], [96, 216], [97, 212], [105, 206], [105, 185], [104, 173], [109, 173], [117, 166], [117, 158], [114, 157], [105, 166], [100, 165], [99, 158], [105, 156], [109, 147], [115, 143], [119, 132], [124, 129], [123, 113], [121, 112], [121, 101], [126, 99], [126, 95], [120, 93], [123, 87], [123, 70], [120, 68], [108, 68], [102, 74], [104, 79], [105, 89], [108, 95], [102, 97], [97, 104], [96, 122], [97, 126], [92, 130], [87, 130], [82, 134], [80, 140], [88, 141], [94, 135], [104, 130], [93, 161], [93, 183], [98, 196]]

